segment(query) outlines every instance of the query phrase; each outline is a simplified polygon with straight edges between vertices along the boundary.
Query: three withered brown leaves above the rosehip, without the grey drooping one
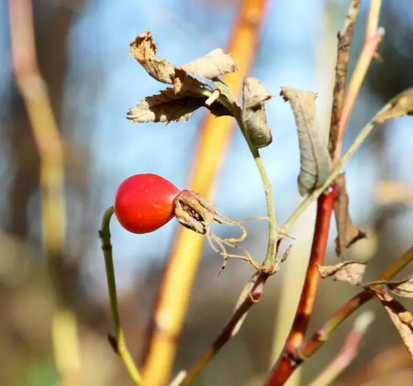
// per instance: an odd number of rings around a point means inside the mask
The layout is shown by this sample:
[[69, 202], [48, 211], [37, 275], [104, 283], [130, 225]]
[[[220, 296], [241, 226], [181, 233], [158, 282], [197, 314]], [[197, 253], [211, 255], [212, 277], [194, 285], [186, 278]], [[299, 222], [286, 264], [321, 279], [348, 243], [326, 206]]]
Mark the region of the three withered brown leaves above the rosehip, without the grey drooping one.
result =
[[160, 94], [148, 96], [136, 107], [129, 109], [127, 119], [133, 123], [187, 121], [200, 107], [207, 107], [215, 116], [231, 116], [232, 113], [215, 100], [209, 105], [205, 101], [211, 95], [211, 87], [195, 76], [213, 79], [237, 67], [230, 55], [215, 49], [209, 54], [177, 67], [158, 58], [156, 43], [149, 31], [142, 32], [130, 44], [131, 56], [136, 58], [147, 73], [161, 83], [172, 85]]

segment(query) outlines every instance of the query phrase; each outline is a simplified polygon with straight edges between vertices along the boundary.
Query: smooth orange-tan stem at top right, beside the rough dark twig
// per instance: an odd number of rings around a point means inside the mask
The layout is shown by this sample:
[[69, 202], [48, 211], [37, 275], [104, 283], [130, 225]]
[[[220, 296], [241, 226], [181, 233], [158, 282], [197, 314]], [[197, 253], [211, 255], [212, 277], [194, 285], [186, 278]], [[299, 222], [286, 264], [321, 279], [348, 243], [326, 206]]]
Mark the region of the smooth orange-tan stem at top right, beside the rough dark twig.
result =
[[[377, 28], [379, 25], [379, 14], [381, 8], [381, 0], [371, 0], [370, 10], [368, 13], [367, 25], [366, 25], [366, 39], [361, 49], [357, 65], [352, 74], [350, 84], [346, 92], [346, 98], [344, 99], [343, 109], [339, 118], [339, 125], [337, 128], [337, 143], [335, 146], [333, 161], [337, 162], [340, 159], [341, 147], [343, 146], [344, 133], [346, 131], [348, 118], [354, 107], [357, 96], [363, 84], [364, 78], [372, 62], [374, 54], [376, 54], [383, 36], [384, 29]], [[330, 137], [331, 138], [331, 137]], [[330, 148], [331, 150], [331, 148]]]

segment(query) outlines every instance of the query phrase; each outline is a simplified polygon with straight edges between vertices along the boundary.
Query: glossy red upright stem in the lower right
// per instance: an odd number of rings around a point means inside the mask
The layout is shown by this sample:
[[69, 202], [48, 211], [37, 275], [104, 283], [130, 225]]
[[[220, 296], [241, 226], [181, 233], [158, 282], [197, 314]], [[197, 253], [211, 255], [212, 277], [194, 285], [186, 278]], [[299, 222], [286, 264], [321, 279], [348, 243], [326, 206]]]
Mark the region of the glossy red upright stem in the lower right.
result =
[[322, 194], [317, 200], [317, 217], [315, 220], [315, 231], [313, 245], [311, 246], [310, 260], [306, 272], [304, 287], [301, 291], [299, 305], [295, 312], [293, 326], [288, 335], [282, 355], [279, 356], [271, 373], [266, 380], [265, 386], [284, 385], [295, 369], [295, 362], [292, 360], [296, 356], [297, 349], [304, 343], [305, 334], [308, 328], [311, 314], [313, 312], [315, 295], [319, 285], [318, 265], [322, 265], [330, 229], [331, 213], [334, 206], [336, 184], [328, 193]]

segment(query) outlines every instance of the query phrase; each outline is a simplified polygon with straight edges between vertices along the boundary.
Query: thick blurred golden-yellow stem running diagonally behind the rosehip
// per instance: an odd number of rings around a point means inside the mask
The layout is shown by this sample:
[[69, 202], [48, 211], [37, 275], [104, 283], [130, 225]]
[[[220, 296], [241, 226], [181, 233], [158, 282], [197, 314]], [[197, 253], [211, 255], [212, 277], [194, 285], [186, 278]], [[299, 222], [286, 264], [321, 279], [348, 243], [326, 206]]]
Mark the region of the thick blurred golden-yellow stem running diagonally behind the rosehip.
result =
[[[240, 95], [242, 79], [255, 61], [266, 3], [266, 0], [244, 0], [239, 6], [239, 16], [228, 45], [238, 71], [224, 78], [231, 89], [237, 90], [235, 96]], [[200, 131], [195, 159], [191, 162], [193, 170], [189, 190], [204, 197], [209, 196], [214, 175], [220, 167], [232, 133], [231, 117], [216, 120], [211, 114], [207, 116]], [[178, 231], [162, 277], [148, 334], [142, 369], [143, 378], [148, 385], [165, 385], [169, 378], [203, 244], [202, 236], [191, 230], [180, 228]]]

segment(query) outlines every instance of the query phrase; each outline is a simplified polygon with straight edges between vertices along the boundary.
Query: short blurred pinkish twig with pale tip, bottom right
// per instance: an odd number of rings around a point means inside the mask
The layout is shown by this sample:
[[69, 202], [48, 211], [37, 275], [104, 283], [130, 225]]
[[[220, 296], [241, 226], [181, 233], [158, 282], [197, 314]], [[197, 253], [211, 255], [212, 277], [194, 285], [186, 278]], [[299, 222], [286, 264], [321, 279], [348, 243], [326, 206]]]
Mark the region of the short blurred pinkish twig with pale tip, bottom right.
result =
[[374, 321], [374, 313], [366, 311], [361, 314], [356, 321], [354, 327], [348, 334], [346, 341], [341, 347], [341, 350], [335, 358], [327, 365], [327, 367], [313, 380], [308, 386], [327, 386], [330, 385], [344, 369], [354, 361], [359, 354], [359, 344], [368, 326]]

